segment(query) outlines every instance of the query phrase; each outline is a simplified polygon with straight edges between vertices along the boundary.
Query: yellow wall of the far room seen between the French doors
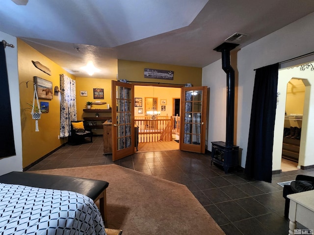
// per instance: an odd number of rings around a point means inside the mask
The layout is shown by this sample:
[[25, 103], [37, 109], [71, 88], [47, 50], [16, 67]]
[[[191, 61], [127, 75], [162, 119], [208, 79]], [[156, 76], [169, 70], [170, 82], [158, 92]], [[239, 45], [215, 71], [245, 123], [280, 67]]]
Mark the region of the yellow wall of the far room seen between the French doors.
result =
[[[172, 116], [173, 112], [173, 98], [180, 98], [181, 88], [171, 88], [171, 87], [155, 87], [155, 86], [134, 86], [134, 96], [136, 98], [142, 98], [142, 107], [134, 108], [135, 117], [145, 116], [145, 97], [157, 98], [157, 111], [160, 111], [160, 116]], [[166, 100], [166, 110], [161, 111], [160, 101]], [[143, 109], [143, 114], [138, 113], [138, 109]]]

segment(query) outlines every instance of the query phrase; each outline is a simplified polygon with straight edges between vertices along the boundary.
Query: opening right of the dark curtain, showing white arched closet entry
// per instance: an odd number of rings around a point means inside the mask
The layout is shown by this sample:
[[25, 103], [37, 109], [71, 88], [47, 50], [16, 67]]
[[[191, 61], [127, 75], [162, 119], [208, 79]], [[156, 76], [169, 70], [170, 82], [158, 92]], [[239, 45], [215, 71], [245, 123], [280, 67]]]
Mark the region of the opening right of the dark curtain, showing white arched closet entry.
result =
[[[314, 165], [312, 154], [314, 152], [314, 145], [310, 141], [314, 136], [312, 134], [314, 133], [314, 122], [312, 121], [314, 119], [314, 100], [311, 96], [311, 94], [314, 93], [314, 86], [311, 85], [314, 81], [314, 72], [307, 65], [309, 65], [309, 63], [279, 70], [272, 161], [272, 169], [274, 172], [295, 170], [295, 164], [297, 164], [297, 169], [310, 169], [313, 168]], [[289, 98], [286, 99], [286, 95], [288, 94], [287, 85], [291, 85], [291, 82], [293, 83], [295, 80], [298, 80], [300, 83], [302, 82], [305, 87], [305, 93], [303, 94], [304, 102], [302, 102], [303, 108], [301, 108], [301, 111], [286, 110], [286, 100], [287, 105], [289, 100]], [[293, 92], [297, 91], [295, 87], [292, 88], [294, 89]], [[301, 106], [300, 101], [297, 102], [297, 105]], [[298, 161], [293, 162], [294, 165], [292, 168], [289, 166], [289, 168], [286, 169], [285, 161], [287, 160], [288, 163], [292, 161], [282, 157], [283, 149], [285, 149], [285, 147], [283, 148], [285, 136], [284, 128], [290, 126], [301, 128], [301, 135]]]

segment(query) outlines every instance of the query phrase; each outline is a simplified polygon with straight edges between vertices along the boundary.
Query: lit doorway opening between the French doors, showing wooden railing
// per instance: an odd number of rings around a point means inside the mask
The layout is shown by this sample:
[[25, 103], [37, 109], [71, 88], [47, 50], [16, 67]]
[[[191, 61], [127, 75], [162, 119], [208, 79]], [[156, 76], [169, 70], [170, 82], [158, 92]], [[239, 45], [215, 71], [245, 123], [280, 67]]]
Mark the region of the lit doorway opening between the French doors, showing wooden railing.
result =
[[[135, 124], [142, 130], [136, 152], [179, 150], [180, 129], [176, 133], [175, 128], [176, 125], [180, 128], [181, 88], [134, 84], [134, 97], [137, 101], [134, 107]], [[174, 116], [175, 113], [178, 116]], [[172, 132], [167, 141], [160, 141], [160, 138], [165, 139], [160, 137], [166, 122], [163, 120], [170, 119], [173, 120]]]

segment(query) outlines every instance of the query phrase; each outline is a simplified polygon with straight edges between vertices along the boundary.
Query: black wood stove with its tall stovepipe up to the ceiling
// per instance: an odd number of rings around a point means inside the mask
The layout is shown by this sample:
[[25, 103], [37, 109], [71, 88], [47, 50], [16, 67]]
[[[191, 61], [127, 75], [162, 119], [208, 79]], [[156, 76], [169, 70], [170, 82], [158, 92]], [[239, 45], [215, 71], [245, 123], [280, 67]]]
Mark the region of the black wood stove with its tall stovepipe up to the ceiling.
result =
[[239, 147], [234, 145], [235, 122], [235, 71], [230, 65], [230, 50], [239, 46], [234, 43], [223, 43], [214, 50], [222, 54], [222, 69], [227, 74], [227, 113], [226, 142], [211, 142], [211, 164], [223, 166], [225, 173], [238, 165]]

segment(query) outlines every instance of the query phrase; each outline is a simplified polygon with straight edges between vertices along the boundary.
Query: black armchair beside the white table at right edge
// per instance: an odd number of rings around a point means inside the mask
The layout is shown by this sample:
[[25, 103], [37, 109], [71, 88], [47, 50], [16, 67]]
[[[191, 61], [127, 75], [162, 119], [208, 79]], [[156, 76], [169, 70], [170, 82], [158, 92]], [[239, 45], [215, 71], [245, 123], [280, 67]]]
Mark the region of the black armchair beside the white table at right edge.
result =
[[309, 175], [297, 175], [295, 181], [291, 182], [291, 185], [285, 185], [283, 190], [283, 197], [285, 202], [285, 217], [288, 218], [290, 199], [287, 195], [297, 192], [303, 192], [314, 189], [314, 177]]

